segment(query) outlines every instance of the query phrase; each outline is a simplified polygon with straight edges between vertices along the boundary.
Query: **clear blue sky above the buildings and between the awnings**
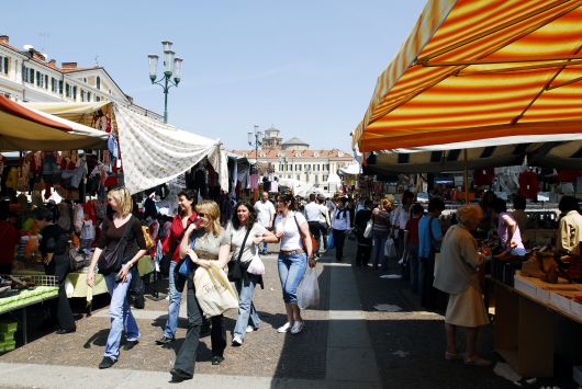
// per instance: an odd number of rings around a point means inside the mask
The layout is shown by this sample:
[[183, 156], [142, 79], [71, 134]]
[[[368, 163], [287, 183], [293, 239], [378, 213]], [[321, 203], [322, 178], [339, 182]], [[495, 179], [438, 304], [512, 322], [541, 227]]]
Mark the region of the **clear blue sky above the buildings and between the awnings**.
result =
[[[350, 150], [380, 72], [425, 0], [10, 1], [0, 34], [44, 48], [58, 64], [96, 56], [135, 102], [163, 113], [147, 54], [164, 39], [183, 58], [169, 123], [228, 149], [248, 148], [254, 125], [284, 139]], [[160, 61], [161, 68], [161, 61]], [[161, 69], [160, 69], [161, 71]]]

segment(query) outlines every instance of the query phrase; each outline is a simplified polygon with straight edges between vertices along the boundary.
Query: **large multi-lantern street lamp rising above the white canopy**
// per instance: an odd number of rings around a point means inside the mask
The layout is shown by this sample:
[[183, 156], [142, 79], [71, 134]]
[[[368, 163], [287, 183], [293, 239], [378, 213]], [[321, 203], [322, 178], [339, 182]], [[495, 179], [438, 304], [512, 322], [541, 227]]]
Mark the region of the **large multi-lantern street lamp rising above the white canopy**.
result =
[[[182, 58], [176, 58], [176, 53], [171, 49], [172, 43], [164, 41], [161, 46], [164, 48], [164, 75], [156, 80], [158, 72], [158, 56], [149, 54], [147, 56], [149, 61], [149, 79], [152, 84], [156, 83], [164, 89], [164, 123], [168, 123], [168, 92], [171, 87], [178, 87], [180, 77], [182, 76]], [[174, 75], [174, 82], [170, 80]]]

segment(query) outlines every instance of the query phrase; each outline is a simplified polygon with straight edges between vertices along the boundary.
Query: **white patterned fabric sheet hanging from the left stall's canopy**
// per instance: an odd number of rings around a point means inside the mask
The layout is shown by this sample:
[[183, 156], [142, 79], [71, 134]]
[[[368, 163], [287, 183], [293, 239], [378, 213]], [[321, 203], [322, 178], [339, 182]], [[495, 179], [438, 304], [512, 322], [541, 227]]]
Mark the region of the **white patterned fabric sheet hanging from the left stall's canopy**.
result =
[[120, 138], [125, 186], [133, 193], [164, 184], [191, 169], [204, 157], [228, 191], [226, 152], [209, 139], [113, 104]]

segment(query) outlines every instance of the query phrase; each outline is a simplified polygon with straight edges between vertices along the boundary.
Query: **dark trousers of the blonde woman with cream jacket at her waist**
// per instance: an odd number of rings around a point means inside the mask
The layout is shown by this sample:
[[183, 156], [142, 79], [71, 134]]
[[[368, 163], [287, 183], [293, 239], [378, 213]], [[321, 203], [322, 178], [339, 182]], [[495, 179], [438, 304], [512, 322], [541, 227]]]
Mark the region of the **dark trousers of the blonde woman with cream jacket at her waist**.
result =
[[[182, 343], [182, 346], [178, 351], [178, 355], [176, 355], [176, 363], [174, 364], [174, 367], [187, 373], [190, 376], [193, 376], [203, 314], [202, 309], [200, 309], [200, 306], [198, 305], [192, 277], [188, 279], [186, 296], [188, 330], [186, 332], [186, 339]], [[212, 323], [212, 330], [210, 334], [212, 355], [223, 356], [224, 348], [226, 348], [226, 329], [224, 328], [223, 316], [215, 316], [210, 320]]]

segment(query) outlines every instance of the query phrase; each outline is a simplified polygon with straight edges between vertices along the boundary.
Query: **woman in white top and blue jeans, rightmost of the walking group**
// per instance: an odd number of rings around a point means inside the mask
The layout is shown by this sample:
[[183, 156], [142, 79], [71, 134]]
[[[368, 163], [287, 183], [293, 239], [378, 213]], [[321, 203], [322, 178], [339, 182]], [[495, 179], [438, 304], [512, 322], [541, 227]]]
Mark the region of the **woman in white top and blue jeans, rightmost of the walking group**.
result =
[[298, 306], [298, 286], [307, 263], [314, 267], [317, 263], [313, 258], [311, 239], [305, 239], [305, 245], [301, 237], [310, 236], [310, 227], [305, 217], [295, 211], [293, 196], [291, 194], [280, 194], [277, 197], [277, 218], [275, 219], [275, 236], [281, 242], [279, 252], [279, 278], [283, 289], [283, 301], [287, 310], [287, 323], [277, 329], [277, 332], [300, 333], [305, 328]]

